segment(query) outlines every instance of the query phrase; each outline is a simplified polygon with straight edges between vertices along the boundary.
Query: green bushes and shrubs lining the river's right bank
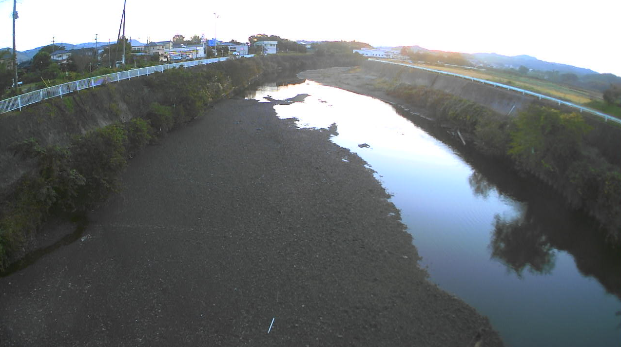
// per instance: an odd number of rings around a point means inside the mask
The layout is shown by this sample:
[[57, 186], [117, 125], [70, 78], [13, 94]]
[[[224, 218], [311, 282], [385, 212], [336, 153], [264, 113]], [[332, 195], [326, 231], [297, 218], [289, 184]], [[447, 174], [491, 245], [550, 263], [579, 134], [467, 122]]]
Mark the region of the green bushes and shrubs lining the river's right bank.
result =
[[[602, 131], [599, 120], [594, 121], [596, 135], [594, 126], [575, 112], [530, 106], [517, 117], [502, 117], [430, 88], [387, 81], [376, 87], [424, 107], [441, 125], [461, 130], [481, 153], [554, 187], [571, 206], [593, 215], [612, 239], [621, 239], [621, 169], [618, 151], [610, 149], [618, 148], [621, 130], [615, 125]], [[609, 138], [616, 138], [617, 145]]]

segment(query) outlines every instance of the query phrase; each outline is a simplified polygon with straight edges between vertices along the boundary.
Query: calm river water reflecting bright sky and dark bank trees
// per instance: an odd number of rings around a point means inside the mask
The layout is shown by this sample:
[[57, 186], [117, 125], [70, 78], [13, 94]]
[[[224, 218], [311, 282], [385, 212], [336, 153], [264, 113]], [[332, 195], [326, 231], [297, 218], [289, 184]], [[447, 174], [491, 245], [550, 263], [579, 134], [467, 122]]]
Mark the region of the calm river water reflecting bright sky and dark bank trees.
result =
[[489, 317], [505, 345], [621, 345], [621, 252], [591, 219], [378, 99], [313, 81], [266, 84], [247, 99], [299, 94], [309, 96], [274, 106], [278, 117], [336, 124], [332, 141], [376, 172], [430, 281]]

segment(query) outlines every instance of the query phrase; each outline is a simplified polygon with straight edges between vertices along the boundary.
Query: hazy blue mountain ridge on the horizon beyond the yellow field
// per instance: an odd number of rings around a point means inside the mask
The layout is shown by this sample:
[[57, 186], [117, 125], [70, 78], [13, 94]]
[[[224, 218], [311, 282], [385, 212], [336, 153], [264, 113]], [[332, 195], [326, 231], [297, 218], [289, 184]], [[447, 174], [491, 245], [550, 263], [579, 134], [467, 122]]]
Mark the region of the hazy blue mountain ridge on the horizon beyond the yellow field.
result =
[[578, 68], [576, 66], [559, 64], [559, 63], [550, 63], [548, 61], [538, 60], [534, 56], [530, 55], [516, 55], [516, 56], [506, 56], [499, 55], [496, 53], [474, 53], [470, 56], [479, 62], [485, 65], [491, 65], [496, 68], [519, 68], [521, 65], [526, 66], [532, 70], [541, 70], [541, 71], [551, 71], [556, 70], [560, 73], [574, 73], [578, 76], [584, 74], [597, 74], [596, 71], [586, 69], [586, 68]]

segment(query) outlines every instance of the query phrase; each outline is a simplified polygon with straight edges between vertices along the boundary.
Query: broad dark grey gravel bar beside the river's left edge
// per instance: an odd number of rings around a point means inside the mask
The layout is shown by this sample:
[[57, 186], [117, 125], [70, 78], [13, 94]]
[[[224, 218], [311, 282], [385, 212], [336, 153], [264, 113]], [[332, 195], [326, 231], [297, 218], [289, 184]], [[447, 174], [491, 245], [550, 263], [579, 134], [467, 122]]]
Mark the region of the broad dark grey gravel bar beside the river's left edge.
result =
[[0, 278], [0, 345], [501, 345], [328, 138], [231, 99], [150, 146], [81, 240]]

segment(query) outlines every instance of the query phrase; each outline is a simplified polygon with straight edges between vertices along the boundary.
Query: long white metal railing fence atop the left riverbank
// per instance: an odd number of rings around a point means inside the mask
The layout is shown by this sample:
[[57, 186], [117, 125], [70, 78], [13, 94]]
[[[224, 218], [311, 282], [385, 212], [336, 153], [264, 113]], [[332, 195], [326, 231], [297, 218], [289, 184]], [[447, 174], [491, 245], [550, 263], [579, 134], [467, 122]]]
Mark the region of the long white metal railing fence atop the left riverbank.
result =
[[[246, 58], [250, 58], [254, 55], [250, 54], [250, 55], [242, 55], [242, 56]], [[105, 84], [105, 83], [121, 81], [122, 79], [132, 79], [138, 76], [145, 76], [145, 75], [152, 74], [155, 72], [163, 72], [164, 70], [178, 68], [179, 66], [182, 66], [182, 65], [184, 68], [191, 68], [192, 66], [217, 63], [218, 61], [223, 61], [223, 60], [227, 60], [230, 58], [232, 58], [232, 56], [224, 56], [222, 58], [182, 61], [180, 63], [171, 63], [171, 64], [165, 64], [165, 65], [147, 66], [146, 68], [119, 71], [116, 73], [104, 74], [102, 76], [84, 78], [84, 79], [80, 79], [79, 81], [58, 84], [57, 86], [51, 86], [48, 88], [43, 88], [43, 89], [39, 89], [39, 90], [32, 91], [32, 92], [27, 92], [27, 93], [20, 94], [18, 96], [14, 96], [9, 99], [4, 99], [0, 101], [0, 114], [9, 112], [12, 110], [16, 110], [16, 109], [22, 110], [22, 107], [24, 106], [35, 104], [36, 102], [43, 101], [45, 99], [50, 99], [52, 97], [57, 97], [57, 96], [60, 96], [62, 98], [64, 94], [68, 94], [70, 92], [79, 91], [81, 89], [86, 89], [86, 88], [95, 88], [95, 86], [101, 86], [102, 84]]]

